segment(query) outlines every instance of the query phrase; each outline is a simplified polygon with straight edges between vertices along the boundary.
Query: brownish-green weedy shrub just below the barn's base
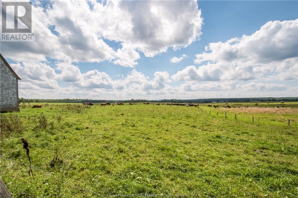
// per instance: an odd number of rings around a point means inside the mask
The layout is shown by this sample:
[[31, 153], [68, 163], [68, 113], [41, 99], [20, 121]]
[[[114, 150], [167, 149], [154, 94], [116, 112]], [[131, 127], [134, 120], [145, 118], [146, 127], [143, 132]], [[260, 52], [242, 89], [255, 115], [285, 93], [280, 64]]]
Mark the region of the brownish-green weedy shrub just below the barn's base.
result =
[[16, 113], [1, 114], [1, 136], [24, 131], [23, 120]]

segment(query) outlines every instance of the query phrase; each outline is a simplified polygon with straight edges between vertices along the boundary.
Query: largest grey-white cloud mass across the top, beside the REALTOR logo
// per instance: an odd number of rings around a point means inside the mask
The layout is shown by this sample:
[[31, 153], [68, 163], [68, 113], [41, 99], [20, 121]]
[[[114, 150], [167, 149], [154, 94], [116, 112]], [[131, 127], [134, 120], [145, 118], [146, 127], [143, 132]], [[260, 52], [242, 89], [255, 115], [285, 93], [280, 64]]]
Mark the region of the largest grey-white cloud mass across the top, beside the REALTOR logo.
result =
[[[15, 61], [108, 60], [134, 67], [140, 58], [190, 45], [201, 35], [196, 1], [53, 1], [32, 7], [35, 42], [4, 42], [1, 52]], [[105, 40], [119, 42], [114, 49]], [[15, 54], [18, 56], [15, 56]]]

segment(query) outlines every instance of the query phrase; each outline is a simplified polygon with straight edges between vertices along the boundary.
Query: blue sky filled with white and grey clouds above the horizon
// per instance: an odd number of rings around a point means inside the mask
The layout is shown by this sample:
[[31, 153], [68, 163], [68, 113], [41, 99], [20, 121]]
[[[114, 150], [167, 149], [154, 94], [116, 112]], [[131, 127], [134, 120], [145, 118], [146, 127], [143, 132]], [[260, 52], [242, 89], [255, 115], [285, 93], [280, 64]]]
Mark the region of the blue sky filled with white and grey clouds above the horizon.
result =
[[34, 1], [19, 97], [298, 97], [298, 1]]

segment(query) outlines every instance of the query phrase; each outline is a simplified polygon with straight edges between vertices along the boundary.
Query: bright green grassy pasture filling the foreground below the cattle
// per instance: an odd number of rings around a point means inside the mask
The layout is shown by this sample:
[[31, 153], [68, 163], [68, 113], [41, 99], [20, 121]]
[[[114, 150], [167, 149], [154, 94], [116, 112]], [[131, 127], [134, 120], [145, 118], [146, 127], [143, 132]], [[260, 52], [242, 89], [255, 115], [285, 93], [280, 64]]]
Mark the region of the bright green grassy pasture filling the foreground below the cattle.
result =
[[[154, 104], [76, 106], [16, 113], [25, 131], [1, 137], [1, 155], [8, 159], [1, 158], [1, 177], [15, 197], [97, 197], [69, 184], [104, 197], [297, 197], [296, 111], [231, 108], [225, 118], [226, 108], [207, 105], [199, 106], [203, 111]], [[45, 129], [39, 127], [41, 112]], [[22, 137], [29, 142], [32, 166], [43, 171], [33, 168], [34, 178], [28, 166], [17, 163], [29, 164]]]

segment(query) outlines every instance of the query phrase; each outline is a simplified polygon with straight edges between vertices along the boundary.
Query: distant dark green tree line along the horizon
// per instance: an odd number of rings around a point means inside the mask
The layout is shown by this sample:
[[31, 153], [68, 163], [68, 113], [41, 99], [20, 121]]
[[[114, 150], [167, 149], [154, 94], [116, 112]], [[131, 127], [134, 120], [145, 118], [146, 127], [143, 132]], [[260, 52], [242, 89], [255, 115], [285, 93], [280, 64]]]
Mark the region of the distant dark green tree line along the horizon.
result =
[[160, 102], [160, 103], [212, 103], [212, 102], [267, 102], [267, 101], [298, 101], [298, 97], [285, 98], [204, 98], [204, 99], [163, 99], [163, 100], [145, 100], [145, 99], [130, 99], [130, 100], [93, 100], [93, 99], [26, 99], [19, 98], [20, 102], [31, 103], [142, 103], [142, 102]]

